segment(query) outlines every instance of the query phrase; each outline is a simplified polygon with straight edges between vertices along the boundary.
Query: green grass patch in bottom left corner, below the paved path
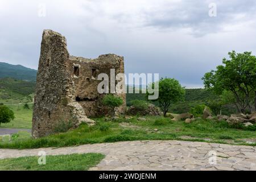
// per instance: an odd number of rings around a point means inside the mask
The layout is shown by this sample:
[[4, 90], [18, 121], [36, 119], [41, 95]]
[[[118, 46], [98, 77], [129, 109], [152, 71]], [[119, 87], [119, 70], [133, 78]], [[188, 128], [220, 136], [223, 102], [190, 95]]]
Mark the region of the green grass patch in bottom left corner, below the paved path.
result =
[[39, 156], [11, 158], [0, 160], [0, 171], [87, 171], [96, 166], [102, 154], [72, 154], [46, 156], [46, 164], [39, 165]]

